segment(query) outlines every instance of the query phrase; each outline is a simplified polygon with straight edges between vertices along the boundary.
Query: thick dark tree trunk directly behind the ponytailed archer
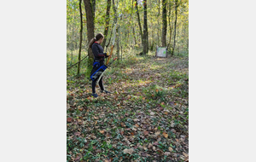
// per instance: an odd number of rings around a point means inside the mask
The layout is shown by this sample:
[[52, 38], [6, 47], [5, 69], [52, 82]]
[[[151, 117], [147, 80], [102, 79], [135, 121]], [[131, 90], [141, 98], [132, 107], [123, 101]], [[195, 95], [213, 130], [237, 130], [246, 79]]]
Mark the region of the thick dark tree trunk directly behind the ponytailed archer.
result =
[[[93, 12], [91, 8], [90, 0], [84, 0], [84, 8], [86, 12], [86, 20], [87, 20], [87, 45], [89, 45], [90, 40], [94, 38], [94, 19], [93, 19]], [[86, 77], [90, 77], [90, 71], [92, 69], [92, 62], [93, 62], [93, 54], [92, 50], [88, 48], [88, 63], [87, 63], [87, 71], [86, 71]]]

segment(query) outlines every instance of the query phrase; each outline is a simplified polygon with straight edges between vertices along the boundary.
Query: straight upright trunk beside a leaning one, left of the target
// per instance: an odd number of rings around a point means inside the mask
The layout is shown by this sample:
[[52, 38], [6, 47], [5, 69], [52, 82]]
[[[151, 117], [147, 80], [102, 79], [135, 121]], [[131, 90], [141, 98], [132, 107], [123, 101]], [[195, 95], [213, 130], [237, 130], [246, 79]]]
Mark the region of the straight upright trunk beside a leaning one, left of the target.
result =
[[147, 24], [147, 0], [143, 1], [144, 5], [144, 25], [143, 25], [143, 55], [148, 53], [148, 24]]

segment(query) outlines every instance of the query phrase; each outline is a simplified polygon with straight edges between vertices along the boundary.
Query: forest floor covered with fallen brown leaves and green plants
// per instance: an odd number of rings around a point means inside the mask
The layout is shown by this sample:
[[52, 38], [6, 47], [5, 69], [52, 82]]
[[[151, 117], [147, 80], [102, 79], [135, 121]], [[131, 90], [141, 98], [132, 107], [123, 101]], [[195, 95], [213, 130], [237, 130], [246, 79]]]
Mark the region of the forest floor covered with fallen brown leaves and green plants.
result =
[[67, 161], [189, 161], [189, 56], [134, 56], [67, 79]]

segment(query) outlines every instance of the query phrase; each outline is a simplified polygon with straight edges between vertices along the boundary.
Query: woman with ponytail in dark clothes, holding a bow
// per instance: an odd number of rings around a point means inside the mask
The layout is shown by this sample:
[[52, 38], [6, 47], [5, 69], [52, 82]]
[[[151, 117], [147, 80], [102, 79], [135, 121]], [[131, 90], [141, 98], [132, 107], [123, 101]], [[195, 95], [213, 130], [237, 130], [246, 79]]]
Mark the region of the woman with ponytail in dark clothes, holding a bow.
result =
[[[99, 67], [102, 67], [104, 65], [105, 58], [107, 58], [109, 55], [107, 53], [103, 53], [103, 48], [101, 46], [101, 43], [103, 42], [104, 36], [102, 33], [97, 33], [95, 38], [92, 38], [90, 40], [89, 47], [92, 49], [92, 53], [94, 55], [94, 61], [93, 61], [93, 68], [90, 72], [90, 75], [96, 72], [96, 70]], [[103, 77], [102, 77], [103, 78]], [[104, 89], [103, 83], [102, 83], [102, 78], [99, 81], [99, 85], [101, 87], [101, 92], [103, 93], [110, 93], [109, 91]], [[98, 95], [96, 94], [96, 80], [93, 80], [91, 83], [92, 87], [92, 96], [97, 97]]]

